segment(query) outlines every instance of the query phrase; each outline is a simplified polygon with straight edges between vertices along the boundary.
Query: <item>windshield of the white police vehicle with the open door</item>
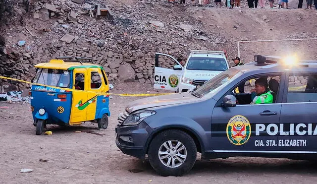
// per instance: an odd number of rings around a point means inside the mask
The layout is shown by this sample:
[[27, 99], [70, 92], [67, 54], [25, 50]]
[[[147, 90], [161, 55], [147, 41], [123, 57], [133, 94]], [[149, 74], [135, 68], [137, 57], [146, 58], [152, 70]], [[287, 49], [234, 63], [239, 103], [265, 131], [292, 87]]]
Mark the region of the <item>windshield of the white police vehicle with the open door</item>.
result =
[[224, 71], [228, 68], [223, 58], [191, 57], [187, 69]]

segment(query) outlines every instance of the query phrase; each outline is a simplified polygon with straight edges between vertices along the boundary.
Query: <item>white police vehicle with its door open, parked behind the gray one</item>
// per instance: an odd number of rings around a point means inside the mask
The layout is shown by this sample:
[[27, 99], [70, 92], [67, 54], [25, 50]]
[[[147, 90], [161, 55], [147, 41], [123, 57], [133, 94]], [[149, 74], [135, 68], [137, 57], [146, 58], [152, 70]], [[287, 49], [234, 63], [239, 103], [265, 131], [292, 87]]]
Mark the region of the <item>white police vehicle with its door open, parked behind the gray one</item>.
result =
[[[167, 66], [163, 63], [168, 62]], [[184, 66], [172, 56], [156, 53], [154, 88], [187, 92], [229, 68], [222, 51], [191, 51]]]

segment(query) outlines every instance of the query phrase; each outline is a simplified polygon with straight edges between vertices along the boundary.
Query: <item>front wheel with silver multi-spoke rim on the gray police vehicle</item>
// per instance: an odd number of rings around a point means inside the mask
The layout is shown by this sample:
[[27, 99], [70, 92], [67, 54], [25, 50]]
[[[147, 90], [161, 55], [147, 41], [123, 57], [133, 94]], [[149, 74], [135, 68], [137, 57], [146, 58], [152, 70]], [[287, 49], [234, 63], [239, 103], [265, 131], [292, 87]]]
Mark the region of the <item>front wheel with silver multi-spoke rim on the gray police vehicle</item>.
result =
[[194, 166], [197, 147], [188, 133], [171, 129], [153, 138], [148, 155], [151, 166], [160, 175], [182, 176]]

